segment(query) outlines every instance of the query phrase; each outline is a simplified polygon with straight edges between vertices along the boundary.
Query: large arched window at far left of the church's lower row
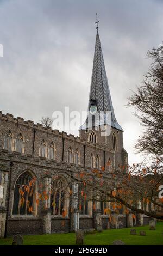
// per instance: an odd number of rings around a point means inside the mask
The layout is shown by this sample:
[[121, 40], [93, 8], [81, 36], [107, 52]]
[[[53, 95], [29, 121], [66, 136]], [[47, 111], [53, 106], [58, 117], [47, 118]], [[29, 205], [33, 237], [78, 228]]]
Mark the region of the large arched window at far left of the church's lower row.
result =
[[29, 182], [32, 181], [32, 179], [33, 177], [29, 172], [23, 173], [17, 179], [14, 188], [13, 215], [32, 214], [34, 209], [34, 185], [29, 187]]

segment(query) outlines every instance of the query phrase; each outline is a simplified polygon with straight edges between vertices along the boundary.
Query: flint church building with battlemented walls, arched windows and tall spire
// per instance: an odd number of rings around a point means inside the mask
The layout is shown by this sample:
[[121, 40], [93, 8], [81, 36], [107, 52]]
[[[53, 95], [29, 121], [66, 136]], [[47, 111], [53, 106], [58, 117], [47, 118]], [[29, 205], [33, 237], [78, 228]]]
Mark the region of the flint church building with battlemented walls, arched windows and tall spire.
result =
[[[116, 120], [111, 101], [98, 23], [88, 110], [85, 123], [79, 128], [80, 137], [0, 111], [1, 237], [96, 229], [97, 224], [108, 228], [109, 216], [104, 212], [104, 202], [98, 204], [98, 212], [93, 211], [90, 198], [79, 207], [79, 198], [76, 202], [70, 198], [70, 191], [74, 193], [79, 187], [72, 187], [72, 184], [69, 187], [67, 179], [72, 172], [89, 172], [102, 167], [111, 172], [128, 163], [128, 154], [123, 148], [123, 129]], [[102, 118], [94, 118], [91, 125], [89, 115], [96, 113], [103, 113]], [[103, 127], [107, 126], [109, 134], [102, 136]], [[56, 179], [53, 179], [54, 173]], [[20, 193], [20, 187], [33, 180], [33, 194], [28, 190]], [[51, 197], [44, 198], [46, 209], [37, 204], [36, 199], [40, 197], [42, 186], [50, 186], [54, 191]], [[133, 226], [132, 218], [128, 221], [124, 212], [117, 218], [117, 222], [110, 223], [110, 228], [118, 228], [118, 223], [123, 227]]]

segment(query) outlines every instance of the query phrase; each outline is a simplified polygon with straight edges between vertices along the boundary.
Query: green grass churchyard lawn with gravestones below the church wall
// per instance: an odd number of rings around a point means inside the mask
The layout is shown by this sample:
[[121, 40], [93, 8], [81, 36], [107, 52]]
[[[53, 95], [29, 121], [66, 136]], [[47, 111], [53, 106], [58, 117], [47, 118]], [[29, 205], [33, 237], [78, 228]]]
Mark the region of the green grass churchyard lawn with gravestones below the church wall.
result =
[[[130, 235], [131, 228], [109, 229], [95, 235], [85, 235], [85, 245], [111, 245], [114, 240], [121, 239], [126, 245], [163, 245], [163, 222], [156, 224], [156, 230], [149, 226], [134, 227], [137, 235]], [[146, 236], [139, 231], [145, 230]], [[24, 245], [75, 245], [75, 234], [24, 235]], [[11, 245], [12, 237], [0, 239], [0, 245]]]

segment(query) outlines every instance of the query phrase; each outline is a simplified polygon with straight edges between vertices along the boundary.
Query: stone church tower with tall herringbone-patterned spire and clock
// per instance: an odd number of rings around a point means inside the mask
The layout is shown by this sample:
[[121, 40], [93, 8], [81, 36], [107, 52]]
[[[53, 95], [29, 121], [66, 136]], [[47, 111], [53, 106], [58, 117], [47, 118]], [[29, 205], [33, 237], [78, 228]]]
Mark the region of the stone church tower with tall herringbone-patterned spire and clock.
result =
[[115, 118], [98, 26], [96, 29], [88, 114], [85, 123], [79, 129], [80, 137], [111, 150], [113, 154], [108, 158], [112, 158], [112, 167], [116, 168], [119, 164], [128, 164], [128, 154], [123, 148], [123, 129]]

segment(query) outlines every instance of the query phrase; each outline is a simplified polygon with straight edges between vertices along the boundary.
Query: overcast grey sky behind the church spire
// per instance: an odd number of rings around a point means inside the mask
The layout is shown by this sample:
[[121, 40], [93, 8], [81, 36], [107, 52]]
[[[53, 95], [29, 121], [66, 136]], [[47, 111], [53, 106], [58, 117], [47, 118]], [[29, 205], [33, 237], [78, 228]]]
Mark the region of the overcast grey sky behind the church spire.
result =
[[0, 0], [0, 110], [35, 123], [65, 106], [87, 110], [96, 12], [124, 148], [130, 163], [139, 162], [142, 127], [125, 105], [148, 70], [147, 51], [163, 40], [161, 0]]

